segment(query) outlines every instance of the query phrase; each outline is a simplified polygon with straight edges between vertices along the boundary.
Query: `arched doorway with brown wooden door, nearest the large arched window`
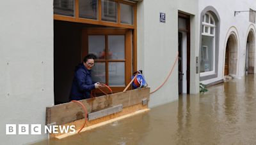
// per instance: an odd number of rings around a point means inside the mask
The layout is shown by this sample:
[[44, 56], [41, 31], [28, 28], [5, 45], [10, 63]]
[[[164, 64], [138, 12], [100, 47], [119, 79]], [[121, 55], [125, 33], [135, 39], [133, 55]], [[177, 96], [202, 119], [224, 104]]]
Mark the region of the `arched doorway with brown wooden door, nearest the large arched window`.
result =
[[236, 76], [237, 74], [237, 39], [235, 34], [228, 37], [225, 53], [224, 76]]

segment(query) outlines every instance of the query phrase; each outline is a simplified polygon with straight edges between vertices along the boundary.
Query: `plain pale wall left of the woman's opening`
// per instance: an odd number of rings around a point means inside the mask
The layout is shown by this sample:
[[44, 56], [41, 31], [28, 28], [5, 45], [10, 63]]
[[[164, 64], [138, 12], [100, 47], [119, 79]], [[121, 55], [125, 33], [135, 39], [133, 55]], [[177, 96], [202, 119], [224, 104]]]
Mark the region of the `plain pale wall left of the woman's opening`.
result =
[[24, 144], [46, 135], [5, 135], [6, 123], [45, 124], [53, 95], [53, 1], [0, 4], [0, 139]]

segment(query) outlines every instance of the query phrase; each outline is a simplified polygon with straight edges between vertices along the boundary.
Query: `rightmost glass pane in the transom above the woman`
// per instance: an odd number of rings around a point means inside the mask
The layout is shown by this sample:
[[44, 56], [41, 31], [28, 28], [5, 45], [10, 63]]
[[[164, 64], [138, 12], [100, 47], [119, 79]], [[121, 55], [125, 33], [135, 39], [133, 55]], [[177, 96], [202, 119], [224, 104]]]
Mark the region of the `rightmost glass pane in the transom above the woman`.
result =
[[133, 25], [133, 6], [120, 3], [121, 23]]

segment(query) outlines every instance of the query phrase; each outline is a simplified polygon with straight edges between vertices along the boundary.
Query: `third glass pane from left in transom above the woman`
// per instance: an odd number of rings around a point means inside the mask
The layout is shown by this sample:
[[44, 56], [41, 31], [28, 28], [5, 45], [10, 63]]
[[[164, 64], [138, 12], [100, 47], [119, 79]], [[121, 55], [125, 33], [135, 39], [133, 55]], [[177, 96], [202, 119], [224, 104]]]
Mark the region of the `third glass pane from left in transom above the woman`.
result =
[[101, 0], [101, 19], [117, 22], [117, 4], [115, 1]]

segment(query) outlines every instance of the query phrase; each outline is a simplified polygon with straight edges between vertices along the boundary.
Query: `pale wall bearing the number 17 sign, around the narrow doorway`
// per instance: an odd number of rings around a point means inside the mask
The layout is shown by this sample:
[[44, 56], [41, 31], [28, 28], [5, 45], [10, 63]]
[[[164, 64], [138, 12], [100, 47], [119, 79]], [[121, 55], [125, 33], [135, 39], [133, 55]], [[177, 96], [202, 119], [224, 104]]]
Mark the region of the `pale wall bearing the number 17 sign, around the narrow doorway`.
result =
[[[138, 69], [143, 69], [150, 90], [155, 90], [163, 83], [171, 67], [175, 62], [178, 51], [178, 10], [187, 13], [197, 13], [196, 1], [189, 1], [190, 5], [184, 5], [186, 1], [143, 1], [138, 4]], [[166, 23], [159, 22], [159, 13], [166, 13]], [[195, 59], [196, 43], [198, 36], [195, 19], [191, 19], [191, 58]], [[194, 37], [195, 36], [195, 37]], [[195, 41], [195, 42], [192, 42]], [[195, 83], [195, 61], [191, 59], [191, 74]], [[198, 79], [198, 77], [197, 77]], [[197, 80], [198, 81], [198, 80]], [[191, 86], [191, 92], [198, 89], [195, 84]], [[199, 88], [199, 86], [198, 86]], [[178, 97], [178, 65], [176, 64], [172, 75], [166, 84], [156, 93], [150, 95], [150, 107], [159, 106]]]

